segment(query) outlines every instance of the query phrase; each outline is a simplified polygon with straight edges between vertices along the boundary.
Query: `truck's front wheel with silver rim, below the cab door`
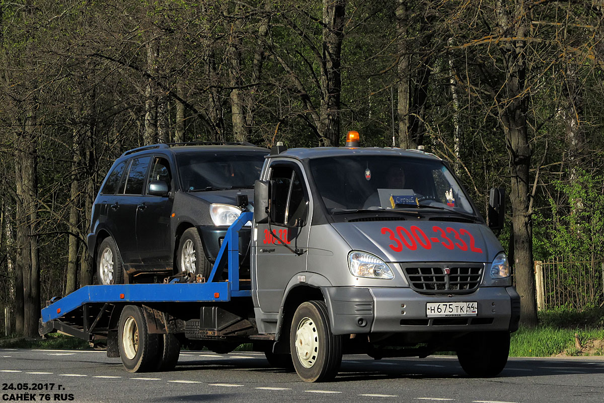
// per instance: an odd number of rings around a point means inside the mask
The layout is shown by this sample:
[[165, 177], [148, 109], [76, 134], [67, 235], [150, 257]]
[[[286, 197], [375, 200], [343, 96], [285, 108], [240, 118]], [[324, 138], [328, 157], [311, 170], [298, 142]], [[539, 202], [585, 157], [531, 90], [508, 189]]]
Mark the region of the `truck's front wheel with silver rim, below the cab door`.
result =
[[342, 337], [332, 334], [327, 306], [307, 301], [296, 309], [289, 347], [298, 376], [305, 382], [333, 379], [342, 363]]

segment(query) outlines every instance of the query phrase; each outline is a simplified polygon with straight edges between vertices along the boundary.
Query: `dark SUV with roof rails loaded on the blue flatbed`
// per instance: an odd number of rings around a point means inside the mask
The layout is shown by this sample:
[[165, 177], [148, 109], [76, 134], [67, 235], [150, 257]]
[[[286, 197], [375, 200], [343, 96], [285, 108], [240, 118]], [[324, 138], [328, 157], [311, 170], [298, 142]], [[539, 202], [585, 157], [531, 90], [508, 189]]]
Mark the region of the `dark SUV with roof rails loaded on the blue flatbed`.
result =
[[[244, 207], [236, 205], [237, 195], [251, 200], [268, 152], [201, 142], [124, 152], [92, 207], [88, 250], [98, 283], [132, 283], [146, 273], [207, 277], [226, 229]], [[249, 243], [249, 229], [241, 235]]]

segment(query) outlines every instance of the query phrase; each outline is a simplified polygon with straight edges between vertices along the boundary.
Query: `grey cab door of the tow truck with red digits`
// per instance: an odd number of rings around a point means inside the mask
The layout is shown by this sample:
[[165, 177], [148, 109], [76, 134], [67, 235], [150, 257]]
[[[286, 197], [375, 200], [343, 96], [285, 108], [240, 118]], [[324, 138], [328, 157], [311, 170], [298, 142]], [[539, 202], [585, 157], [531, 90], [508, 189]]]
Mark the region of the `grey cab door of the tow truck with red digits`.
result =
[[[258, 225], [254, 244], [257, 248], [255, 292], [264, 312], [278, 312], [289, 280], [298, 272], [306, 271], [310, 203], [301, 172], [295, 163], [277, 161], [269, 173], [269, 179], [275, 181], [272, 199], [275, 219], [270, 225]], [[296, 223], [300, 226], [295, 227]]]

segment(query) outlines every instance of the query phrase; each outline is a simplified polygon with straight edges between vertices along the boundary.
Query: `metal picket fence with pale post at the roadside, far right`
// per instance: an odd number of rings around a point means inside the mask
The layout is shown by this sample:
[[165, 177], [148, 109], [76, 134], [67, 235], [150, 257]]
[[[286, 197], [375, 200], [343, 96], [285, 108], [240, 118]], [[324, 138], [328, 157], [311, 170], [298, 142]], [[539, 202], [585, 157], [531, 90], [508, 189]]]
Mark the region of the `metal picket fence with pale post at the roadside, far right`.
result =
[[594, 259], [535, 262], [537, 309], [586, 309], [604, 303], [604, 262]]

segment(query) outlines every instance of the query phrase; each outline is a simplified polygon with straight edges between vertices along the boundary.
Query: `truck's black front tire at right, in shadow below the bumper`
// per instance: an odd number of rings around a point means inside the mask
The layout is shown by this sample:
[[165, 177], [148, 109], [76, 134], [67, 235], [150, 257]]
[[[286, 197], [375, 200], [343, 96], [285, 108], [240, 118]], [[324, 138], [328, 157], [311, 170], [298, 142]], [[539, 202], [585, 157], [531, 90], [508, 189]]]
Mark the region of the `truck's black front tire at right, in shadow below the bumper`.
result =
[[509, 332], [475, 332], [464, 336], [457, 349], [457, 359], [467, 375], [474, 378], [497, 376], [510, 354]]

